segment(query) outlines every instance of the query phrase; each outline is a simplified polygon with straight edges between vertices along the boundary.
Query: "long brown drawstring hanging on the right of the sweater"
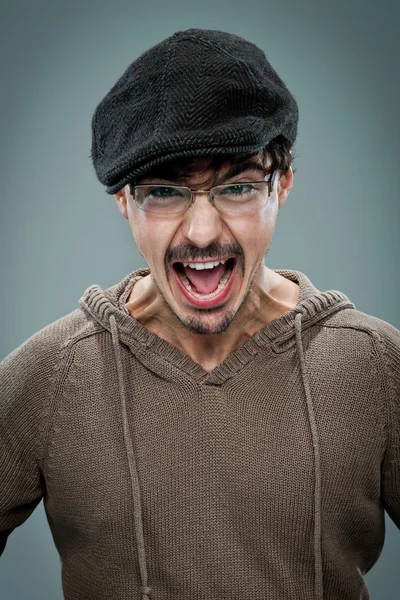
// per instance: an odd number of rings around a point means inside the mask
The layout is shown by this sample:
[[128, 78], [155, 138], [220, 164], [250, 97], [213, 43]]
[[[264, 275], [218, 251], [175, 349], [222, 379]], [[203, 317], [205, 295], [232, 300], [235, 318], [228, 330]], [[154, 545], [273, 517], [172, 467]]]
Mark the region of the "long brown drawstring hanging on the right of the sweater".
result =
[[298, 313], [294, 320], [296, 334], [296, 347], [300, 359], [301, 377], [303, 380], [304, 391], [307, 398], [308, 419], [311, 427], [311, 434], [314, 447], [315, 461], [315, 526], [314, 526], [314, 559], [315, 559], [315, 598], [323, 600], [323, 580], [322, 580], [322, 550], [321, 550], [321, 465], [320, 450], [317, 424], [312, 405], [311, 391], [307, 378], [307, 372], [304, 363], [303, 344], [301, 340], [301, 313]]

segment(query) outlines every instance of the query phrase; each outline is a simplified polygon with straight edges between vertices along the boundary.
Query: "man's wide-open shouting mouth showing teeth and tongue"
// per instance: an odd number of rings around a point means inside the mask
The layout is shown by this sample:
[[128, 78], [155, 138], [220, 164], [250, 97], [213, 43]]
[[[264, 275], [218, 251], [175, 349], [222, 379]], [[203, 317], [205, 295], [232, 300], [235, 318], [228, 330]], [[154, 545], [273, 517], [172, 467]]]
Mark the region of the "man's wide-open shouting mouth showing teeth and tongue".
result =
[[181, 289], [186, 292], [185, 296], [199, 301], [218, 297], [220, 301], [222, 299], [220, 296], [228, 286], [235, 265], [236, 259], [231, 257], [209, 262], [177, 262], [174, 263], [173, 269]]

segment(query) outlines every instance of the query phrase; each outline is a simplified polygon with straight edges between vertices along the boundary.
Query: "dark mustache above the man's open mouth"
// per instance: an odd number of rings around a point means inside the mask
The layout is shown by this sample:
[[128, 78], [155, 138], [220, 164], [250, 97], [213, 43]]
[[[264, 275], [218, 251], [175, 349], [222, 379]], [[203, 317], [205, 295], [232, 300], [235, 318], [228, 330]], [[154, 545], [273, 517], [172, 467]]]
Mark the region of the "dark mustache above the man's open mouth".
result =
[[165, 270], [168, 274], [169, 266], [174, 262], [188, 262], [192, 260], [203, 260], [205, 258], [213, 257], [216, 260], [226, 258], [227, 256], [233, 256], [239, 263], [239, 267], [244, 269], [244, 252], [240, 244], [237, 242], [229, 242], [228, 244], [218, 244], [212, 242], [205, 248], [199, 248], [198, 246], [191, 246], [188, 244], [178, 244], [173, 248], [168, 248], [165, 253]]

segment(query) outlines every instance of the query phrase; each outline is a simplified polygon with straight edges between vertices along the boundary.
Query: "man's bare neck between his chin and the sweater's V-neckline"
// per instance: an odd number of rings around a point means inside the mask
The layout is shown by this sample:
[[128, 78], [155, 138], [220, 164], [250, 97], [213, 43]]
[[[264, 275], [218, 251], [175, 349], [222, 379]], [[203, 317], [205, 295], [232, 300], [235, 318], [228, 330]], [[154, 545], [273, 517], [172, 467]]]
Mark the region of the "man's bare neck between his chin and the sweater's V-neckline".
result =
[[165, 303], [150, 275], [134, 285], [126, 308], [146, 329], [210, 372], [265, 325], [296, 306], [298, 285], [272, 269], [265, 266], [263, 269], [261, 283], [253, 286], [245, 304], [223, 333], [190, 332]]

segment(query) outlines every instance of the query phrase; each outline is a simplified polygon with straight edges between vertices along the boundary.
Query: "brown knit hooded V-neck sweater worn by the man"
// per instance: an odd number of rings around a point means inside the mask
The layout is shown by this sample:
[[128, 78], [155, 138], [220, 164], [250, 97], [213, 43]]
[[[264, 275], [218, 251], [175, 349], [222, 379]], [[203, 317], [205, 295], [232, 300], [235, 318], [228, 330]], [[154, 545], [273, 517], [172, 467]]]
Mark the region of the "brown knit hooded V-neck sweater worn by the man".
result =
[[135, 275], [0, 368], [0, 550], [43, 498], [67, 600], [366, 600], [400, 526], [400, 332], [302, 273], [211, 373], [133, 319]]

